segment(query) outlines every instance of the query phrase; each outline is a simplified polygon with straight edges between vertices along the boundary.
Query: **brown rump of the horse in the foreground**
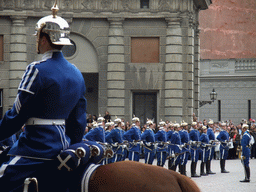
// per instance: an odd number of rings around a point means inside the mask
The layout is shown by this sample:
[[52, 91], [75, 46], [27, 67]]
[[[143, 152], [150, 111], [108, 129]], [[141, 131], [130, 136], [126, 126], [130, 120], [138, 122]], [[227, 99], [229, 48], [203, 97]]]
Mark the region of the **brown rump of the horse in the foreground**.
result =
[[200, 192], [189, 177], [133, 161], [98, 167], [89, 181], [89, 192]]

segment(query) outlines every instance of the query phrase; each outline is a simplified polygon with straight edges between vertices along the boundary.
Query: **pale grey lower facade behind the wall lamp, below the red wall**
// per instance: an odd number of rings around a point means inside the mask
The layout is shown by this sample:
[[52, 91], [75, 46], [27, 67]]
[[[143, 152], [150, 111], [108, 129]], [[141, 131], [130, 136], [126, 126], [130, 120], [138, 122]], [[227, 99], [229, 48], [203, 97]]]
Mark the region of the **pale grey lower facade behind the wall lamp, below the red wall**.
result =
[[209, 101], [214, 88], [217, 99], [200, 108], [200, 120], [215, 122], [255, 119], [256, 59], [201, 60], [200, 100]]

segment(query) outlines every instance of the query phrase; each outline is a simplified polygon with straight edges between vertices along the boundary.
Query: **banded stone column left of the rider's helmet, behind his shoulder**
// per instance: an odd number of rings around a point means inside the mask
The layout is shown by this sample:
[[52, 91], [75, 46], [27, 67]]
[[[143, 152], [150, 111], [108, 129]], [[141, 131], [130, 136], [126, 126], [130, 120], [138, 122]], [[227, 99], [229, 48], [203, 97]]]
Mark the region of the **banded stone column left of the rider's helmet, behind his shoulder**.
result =
[[27, 17], [12, 16], [10, 41], [10, 89], [9, 106], [12, 107], [17, 88], [27, 67], [27, 38], [25, 20]]

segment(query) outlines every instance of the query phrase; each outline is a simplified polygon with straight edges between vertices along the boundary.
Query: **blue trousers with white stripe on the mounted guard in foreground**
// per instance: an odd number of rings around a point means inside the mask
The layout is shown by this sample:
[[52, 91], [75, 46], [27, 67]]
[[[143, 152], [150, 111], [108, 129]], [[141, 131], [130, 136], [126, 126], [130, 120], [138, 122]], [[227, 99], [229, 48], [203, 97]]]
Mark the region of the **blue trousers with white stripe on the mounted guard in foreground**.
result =
[[35, 177], [40, 191], [65, 191], [66, 173], [57, 170], [52, 161], [12, 156], [0, 167], [1, 192], [23, 191], [26, 178]]

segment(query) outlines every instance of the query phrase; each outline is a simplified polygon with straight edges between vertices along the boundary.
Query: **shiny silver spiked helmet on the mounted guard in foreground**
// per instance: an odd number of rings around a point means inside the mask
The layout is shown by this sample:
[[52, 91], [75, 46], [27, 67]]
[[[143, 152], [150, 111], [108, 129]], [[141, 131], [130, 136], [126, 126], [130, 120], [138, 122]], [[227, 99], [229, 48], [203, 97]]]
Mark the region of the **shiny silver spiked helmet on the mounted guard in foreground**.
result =
[[51, 10], [52, 15], [45, 16], [36, 23], [35, 35], [39, 39], [40, 33], [43, 32], [49, 35], [54, 45], [72, 45], [69, 39], [69, 24], [65, 19], [57, 16], [59, 8], [56, 2]]

